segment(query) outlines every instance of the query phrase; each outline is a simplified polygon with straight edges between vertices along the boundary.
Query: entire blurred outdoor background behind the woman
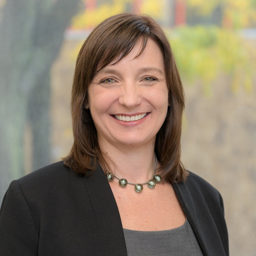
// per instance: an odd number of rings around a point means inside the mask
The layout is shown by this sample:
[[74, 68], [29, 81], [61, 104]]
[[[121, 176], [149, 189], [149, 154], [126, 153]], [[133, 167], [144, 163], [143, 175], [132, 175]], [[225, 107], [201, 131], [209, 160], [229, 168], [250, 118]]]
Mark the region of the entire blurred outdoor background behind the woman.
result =
[[0, 201], [69, 152], [76, 56], [120, 12], [165, 29], [186, 92], [182, 162], [222, 194], [230, 255], [256, 255], [256, 0], [0, 0]]

